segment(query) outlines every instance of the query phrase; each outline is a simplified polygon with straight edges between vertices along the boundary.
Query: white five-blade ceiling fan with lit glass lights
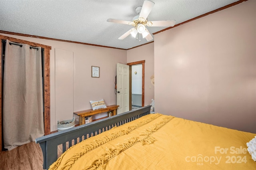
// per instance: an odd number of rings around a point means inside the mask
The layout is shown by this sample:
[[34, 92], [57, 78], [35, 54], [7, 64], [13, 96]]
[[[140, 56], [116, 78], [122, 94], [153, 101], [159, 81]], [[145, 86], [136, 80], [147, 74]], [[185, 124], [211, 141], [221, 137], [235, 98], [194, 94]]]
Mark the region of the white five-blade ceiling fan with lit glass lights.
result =
[[152, 10], [154, 6], [154, 2], [145, 0], [142, 6], [138, 6], [135, 11], [137, 16], [135, 16], [132, 21], [124, 21], [124, 20], [117, 20], [108, 18], [107, 22], [114, 22], [119, 24], [128, 24], [134, 26], [134, 28], [128, 30], [126, 33], [124, 33], [122, 36], [120, 36], [118, 39], [123, 40], [126, 38], [129, 34], [131, 34], [134, 38], [137, 37], [138, 39], [138, 33], [139, 36], [142, 35], [142, 38], [146, 38], [147, 41], [153, 40], [153, 37], [151, 36], [150, 32], [146, 28], [146, 26], [149, 27], [173, 27], [175, 25], [175, 20], [163, 20], [163, 21], [147, 21], [148, 15], [150, 11]]

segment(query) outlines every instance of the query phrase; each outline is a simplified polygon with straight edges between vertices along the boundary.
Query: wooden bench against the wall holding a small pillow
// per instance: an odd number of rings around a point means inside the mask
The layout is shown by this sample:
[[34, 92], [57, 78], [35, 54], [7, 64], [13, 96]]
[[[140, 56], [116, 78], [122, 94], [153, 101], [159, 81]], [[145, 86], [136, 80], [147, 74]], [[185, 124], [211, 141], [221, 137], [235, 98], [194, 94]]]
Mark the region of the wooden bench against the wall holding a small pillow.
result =
[[104, 113], [108, 111], [112, 111], [113, 115], [116, 115], [116, 110], [118, 107], [119, 107], [118, 105], [110, 105], [110, 106], [107, 106], [107, 108], [97, 109], [97, 110], [88, 109], [84, 111], [74, 112], [74, 114], [79, 116], [79, 125], [84, 125], [86, 116], [91, 116], [91, 115]]

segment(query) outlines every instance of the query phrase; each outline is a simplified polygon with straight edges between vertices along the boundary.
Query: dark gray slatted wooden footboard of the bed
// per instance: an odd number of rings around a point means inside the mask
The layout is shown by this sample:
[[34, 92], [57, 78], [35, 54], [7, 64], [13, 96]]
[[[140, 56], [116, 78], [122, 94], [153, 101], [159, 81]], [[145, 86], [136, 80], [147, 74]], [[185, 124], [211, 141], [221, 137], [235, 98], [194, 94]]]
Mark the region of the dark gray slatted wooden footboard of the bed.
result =
[[100, 132], [111, 129], [114, 126], [120, 126], [144, 115], [150, 114], [150, 105], [134, 109], [125, 113], [114, 115], [105, 119], [94, 121], [85, 125], [69, 128], [53, 134], [48, 134], [40, 138], [36, 138], [36, 143], [40, 144], [43, 152], [43, 169], [48, 169], [49, 166], [57, 160], [58, 145], [62, 144], [62, 153], [66, 151], [66, 142], [68, 147], [71, 147], [82, 140], [91, 136], [95, 136]]

